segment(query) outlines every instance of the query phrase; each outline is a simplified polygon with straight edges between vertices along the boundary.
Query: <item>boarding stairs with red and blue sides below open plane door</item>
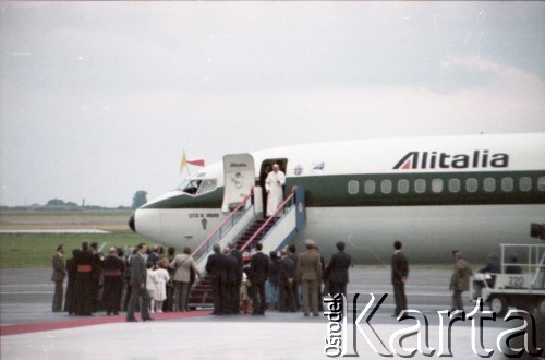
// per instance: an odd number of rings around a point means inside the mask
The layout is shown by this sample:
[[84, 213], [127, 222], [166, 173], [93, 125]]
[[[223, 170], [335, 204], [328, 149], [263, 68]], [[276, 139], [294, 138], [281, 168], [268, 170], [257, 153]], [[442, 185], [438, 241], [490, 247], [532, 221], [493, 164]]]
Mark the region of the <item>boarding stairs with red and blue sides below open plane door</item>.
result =
[[[252, 194], [247, 196], [231, 214], [222, 221], [232, 221], [229, 218], [235, 217], [233, 213], [241, 213], [241, 208], [247, 206], [244, 213], [253, 213], [252, 204], [246, 204], [252, 199]], [[218, 239], [217, 233], [220, 230], [215, 229], [210, 236], [193, 252], [198, 271], [203, 275], [202, 279], [196, 279], [196, 284], [190, 292], [190, 308], [210, 307], [213, 303], [211, 285], [209, 278], [205, 276], [206, 262], [213, 253], [213, 245], [219, 243], [223, 249], [230, 241], [235, 242], [235, 248], [241, 252], [252, 252], [255, 244], [263, 243], [263, 251], [268, 254], [270, 251], [279, 251], [284, 245], [293, 240], [295, 235], [300, 232], [306, 220], [306, 212], [304, 205], [304, 189], [294, 187], [291, 194], [283, 201], [277, 211], [268, 218], [262, 218], [262, 214], [239, 214], [240, 218], [233, 223], [228, 232], [225, 232], [221, 239]], [[220, 226], [221, 227], [221, 224]], [[218, 228], [219, 228], [218, 227]], [[237, 240], [234, 240], [237, 239]], [[206, 251], [204, 251], [206, 249]]]

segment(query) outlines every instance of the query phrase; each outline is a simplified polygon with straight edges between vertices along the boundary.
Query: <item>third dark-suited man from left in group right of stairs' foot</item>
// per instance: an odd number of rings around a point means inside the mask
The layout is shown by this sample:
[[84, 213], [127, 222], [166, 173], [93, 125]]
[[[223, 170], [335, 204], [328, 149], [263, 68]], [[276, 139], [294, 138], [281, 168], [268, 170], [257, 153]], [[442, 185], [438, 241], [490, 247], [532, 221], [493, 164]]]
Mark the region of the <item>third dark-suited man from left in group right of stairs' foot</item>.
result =
[[265, 281], [269, 274], [269, 256], [262, 252], [262, 243], [257, 243], [255, 250], [257, 252], [253, 254], [250, 260], [250, 267], [252, 268], [250, 283], [253, 287], [252, 302], [254, 303], [254, 312], [252, 315], [264, 315], [267, 301], [265, 298]]

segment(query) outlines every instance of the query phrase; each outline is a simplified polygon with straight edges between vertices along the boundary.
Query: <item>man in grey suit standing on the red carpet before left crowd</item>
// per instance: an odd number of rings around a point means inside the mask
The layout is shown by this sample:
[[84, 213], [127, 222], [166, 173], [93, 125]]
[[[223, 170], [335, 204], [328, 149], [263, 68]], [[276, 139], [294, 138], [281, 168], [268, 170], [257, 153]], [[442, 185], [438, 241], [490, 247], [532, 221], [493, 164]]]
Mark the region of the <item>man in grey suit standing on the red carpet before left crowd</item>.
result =
[[143, 321], [154, 320], [149, 316], [149, 293], [146, 289], [146, 261], [147, 245], [141, 243], [138, 252], [131, 256], [131, 300], [126, 309], [126, 321], [135, 322], [134, 310], [138, 305], [138, 300], [142, 298], [141, 315]]

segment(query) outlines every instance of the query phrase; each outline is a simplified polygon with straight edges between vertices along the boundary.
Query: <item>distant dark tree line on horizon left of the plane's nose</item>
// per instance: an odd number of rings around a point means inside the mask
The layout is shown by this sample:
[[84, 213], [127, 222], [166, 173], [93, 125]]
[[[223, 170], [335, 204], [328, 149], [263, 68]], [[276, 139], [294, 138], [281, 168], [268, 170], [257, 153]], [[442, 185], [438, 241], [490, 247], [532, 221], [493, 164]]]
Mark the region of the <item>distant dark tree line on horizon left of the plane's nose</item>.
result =
[[28, 206], [1, 206], [0, 205], [0, 211], [111, 211], [111, 209], [120, 209], [120, 211], [129, 211], [129, 209], [136, 209], [147, 203], [147, 192], [143, 190], [136, 191], [136, 193], [133, 196], [133, 203], [132, 206], [117, 206], [117, 207], [106, 207], [106, 206], [98, 206], [98, 205], [86, 205], [85, 201], [82, 202], [81, 205], [74, 203], [74, 202], [65, 202], [62, 199], [51, 199], [48, 201], [45, 205], [41, 204], [32, 204]]

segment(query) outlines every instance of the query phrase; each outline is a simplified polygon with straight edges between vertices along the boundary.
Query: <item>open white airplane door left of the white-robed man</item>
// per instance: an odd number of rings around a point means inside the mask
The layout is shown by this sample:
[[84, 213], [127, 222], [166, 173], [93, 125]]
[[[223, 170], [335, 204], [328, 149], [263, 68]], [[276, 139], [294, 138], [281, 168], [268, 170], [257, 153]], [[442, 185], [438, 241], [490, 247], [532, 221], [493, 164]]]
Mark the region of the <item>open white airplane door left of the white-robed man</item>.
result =
[[250, 154], [223, 156], [223, 204], [221, 211], [232, 211], [255, 184], [254, 158]]

